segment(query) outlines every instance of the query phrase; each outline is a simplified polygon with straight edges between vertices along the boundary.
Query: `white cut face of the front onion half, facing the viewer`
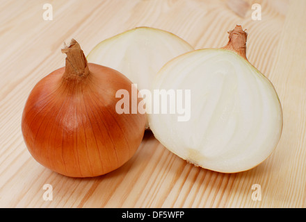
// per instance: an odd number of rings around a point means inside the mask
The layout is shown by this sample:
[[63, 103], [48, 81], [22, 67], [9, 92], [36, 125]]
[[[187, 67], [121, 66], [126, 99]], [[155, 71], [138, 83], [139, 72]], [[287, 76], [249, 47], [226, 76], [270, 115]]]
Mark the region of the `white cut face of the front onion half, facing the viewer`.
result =
[[149, 114], [156, 139], [204, 169], [236, 173], [271, 155], [282, 132], [282, 108], [271, 82], [232, 51], [202, 49], [168, 62], [153, 89], [190, 89], [189, 121]]

